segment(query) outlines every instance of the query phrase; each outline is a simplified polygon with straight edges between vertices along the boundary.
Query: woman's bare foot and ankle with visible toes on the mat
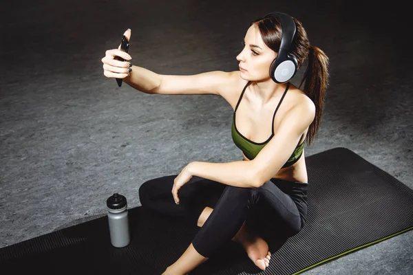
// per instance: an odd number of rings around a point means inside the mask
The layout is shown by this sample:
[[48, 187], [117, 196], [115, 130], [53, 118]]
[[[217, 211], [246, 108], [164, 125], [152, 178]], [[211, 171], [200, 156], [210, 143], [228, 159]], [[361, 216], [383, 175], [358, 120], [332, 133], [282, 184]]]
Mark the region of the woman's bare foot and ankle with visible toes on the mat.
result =
[[268, 250], [268, 243], [260, 236], [251, 236], [246, 232], [244, 225], [233, 238], [233, 241], [240, 243], [248, 258], [253, 261], [257, 267], [261, 270], [265, 270], [268, 267], [271, 260], [271, 252]]

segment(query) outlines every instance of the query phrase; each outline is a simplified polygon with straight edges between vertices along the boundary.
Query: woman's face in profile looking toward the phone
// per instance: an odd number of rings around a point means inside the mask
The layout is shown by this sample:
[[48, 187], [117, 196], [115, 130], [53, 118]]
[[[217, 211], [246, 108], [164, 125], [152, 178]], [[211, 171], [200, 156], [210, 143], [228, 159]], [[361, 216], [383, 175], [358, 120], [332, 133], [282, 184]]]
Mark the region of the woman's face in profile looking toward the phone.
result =
[[260, 30], [251, 25], [244, 38], [244, 49], [237, 56], [242, 79], [257, 81], [271, 79], [269, 69], [277, 53], [262, 41]]

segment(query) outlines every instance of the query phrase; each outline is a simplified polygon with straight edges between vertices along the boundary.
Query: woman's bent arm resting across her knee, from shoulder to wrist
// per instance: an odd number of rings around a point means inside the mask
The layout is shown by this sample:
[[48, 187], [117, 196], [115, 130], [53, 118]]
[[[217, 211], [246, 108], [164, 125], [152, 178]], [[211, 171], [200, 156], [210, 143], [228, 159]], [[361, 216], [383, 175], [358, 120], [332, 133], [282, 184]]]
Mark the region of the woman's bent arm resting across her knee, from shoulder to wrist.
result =
[[191, 162], [188, 167], [189, 173], [230, 186], [262, 186], [287, 162], [302, 133], [315, 118], [313, 102], [309, 98], [304, 102], [286, 113], [273, 138], [251, 161]]

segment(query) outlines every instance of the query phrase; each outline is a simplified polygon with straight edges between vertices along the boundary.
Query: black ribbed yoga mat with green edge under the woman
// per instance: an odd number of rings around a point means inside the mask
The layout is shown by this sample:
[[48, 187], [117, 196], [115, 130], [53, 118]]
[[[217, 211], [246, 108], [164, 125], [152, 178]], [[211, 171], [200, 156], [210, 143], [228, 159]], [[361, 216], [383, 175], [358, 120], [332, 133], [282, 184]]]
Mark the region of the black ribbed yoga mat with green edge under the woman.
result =
[[[310, 155], [306, 163], [306, 225], [273, 252], [262, 274], [298, 274], [413, 229], [413, 190], [366, 159], [340, 147]], [[0, 272], [161, 274], [199, 230], [142, 207], [129, 210], [129, 223], [125, 248], [110, 244], [106, 216], [1, 248]], [[260, 270], [233, 241], [191, 272], [246, 273]]]

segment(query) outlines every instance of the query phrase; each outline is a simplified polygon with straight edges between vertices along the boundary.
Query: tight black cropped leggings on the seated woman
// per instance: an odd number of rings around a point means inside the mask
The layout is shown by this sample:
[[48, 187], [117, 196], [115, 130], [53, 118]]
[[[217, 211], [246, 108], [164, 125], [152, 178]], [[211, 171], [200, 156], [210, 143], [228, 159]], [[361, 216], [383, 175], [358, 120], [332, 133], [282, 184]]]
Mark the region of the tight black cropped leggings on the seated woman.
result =
[[[139, 188], [140, 203], [144, 208], [176, 217], [191, 226], [198, 226], [205, 207], [213, 208], [192, 241], [195, 250], [207, 258], [231, 241], [244, 221], [248, 232], [266, 241], [275, 234], [277, 242], [282, 239], [280, 245], [304, 226], [306, 183], [273, 178], [260, 188], [242, 188], [194, 176], [178, 191], [180, 204], [176, 205], [172, 186], [177, 176], [146, 181]], [[271, 243], [268, 245], [271, 247]]]

